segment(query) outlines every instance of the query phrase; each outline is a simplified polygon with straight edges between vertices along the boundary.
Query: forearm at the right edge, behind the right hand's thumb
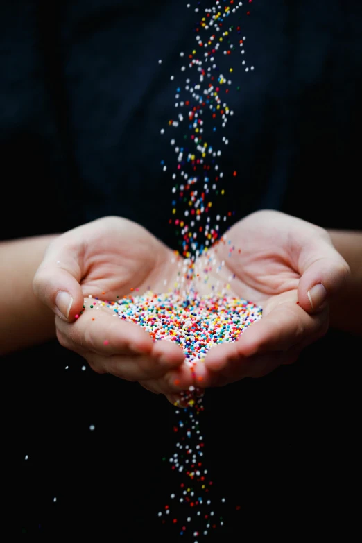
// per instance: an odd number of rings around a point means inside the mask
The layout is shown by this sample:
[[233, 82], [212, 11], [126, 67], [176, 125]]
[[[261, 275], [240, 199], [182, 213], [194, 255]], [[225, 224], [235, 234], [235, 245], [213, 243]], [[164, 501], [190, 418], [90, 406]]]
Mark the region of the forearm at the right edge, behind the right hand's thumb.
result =
[[328, 233], [351, 269], [345, 288], [331, 303], [331, 326], [362, 336], [362, 232], [328, 230]]

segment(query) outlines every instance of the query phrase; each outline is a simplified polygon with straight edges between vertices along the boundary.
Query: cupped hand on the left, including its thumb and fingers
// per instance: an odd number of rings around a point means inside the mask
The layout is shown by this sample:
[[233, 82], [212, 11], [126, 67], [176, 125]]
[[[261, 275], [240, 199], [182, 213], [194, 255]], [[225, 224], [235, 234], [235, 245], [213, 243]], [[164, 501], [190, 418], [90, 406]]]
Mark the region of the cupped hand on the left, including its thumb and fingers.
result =
[[33, 288], [55, 313], [61, 345], [83, 356], [94, 371], [142, 381], [155, 392], [162, 386], [167, 392], [174, 389], [168, 383], [176, 379], [182, 388], [192, 381], [181, 348], [171, 341], [152, 341], [102, 300], [117, 300], [132, 289], [140, 295], [148, 289], [162, 292], [173, 288], [177, 274], [173, 252], [147, 230], [123, 218], [105, 217], [56, 238]]

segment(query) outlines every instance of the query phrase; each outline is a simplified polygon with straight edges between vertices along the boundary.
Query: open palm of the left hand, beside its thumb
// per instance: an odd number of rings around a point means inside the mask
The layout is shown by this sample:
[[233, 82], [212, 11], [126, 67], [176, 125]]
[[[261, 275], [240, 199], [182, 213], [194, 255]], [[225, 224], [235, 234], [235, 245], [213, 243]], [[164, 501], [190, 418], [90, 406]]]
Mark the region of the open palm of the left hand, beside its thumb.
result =
[[116, 300], [131, 289], [160, 292], [177, 276], [172, 251], [125, 219], [110, 217], [87, 225], [82, 251], [80, 285], [85, 296]]

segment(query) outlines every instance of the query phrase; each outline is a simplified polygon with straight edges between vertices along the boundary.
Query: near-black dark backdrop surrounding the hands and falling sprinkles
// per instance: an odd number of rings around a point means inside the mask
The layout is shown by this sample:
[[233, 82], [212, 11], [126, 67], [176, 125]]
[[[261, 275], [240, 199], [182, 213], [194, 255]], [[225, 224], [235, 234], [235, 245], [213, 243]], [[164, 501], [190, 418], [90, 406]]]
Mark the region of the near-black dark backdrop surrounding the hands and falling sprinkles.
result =
[[[160, 128], [186, 77], [179, 53], [194, 43], [198, 16], [185, 4], [1, 2], [3, 239], [118, 214], [177, 247]], [[239, 71], [242, 92], [230, 94], [222, 165], [242, 175], [225, 179], [221, 205], [233, 221], [268, 207], [361, 229], [361, 3], [244, 4], [255, 71]], [[174, 488], [162, 463], [173, 451], [173, 406], [137, 383], [83, 372], [56, 342], [2, 362], [15, 533], [176, 541], [157, 518]], [[229, 520], [216, 541], [346, 536], [356, 516], [359, 362], [361, 340], [331, 330], [291, 368], [208, 391], [207, 456]]]

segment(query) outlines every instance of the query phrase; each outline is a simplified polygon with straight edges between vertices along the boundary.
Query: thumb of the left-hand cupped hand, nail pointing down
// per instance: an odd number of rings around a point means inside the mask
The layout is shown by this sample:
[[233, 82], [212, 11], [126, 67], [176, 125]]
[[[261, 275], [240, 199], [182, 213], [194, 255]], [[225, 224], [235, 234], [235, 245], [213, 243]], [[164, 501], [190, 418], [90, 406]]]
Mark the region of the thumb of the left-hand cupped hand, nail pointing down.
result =
[[62, 236], [49, 245], [33, 279], [33, 291], [62, 320], [72, 321], [83, 309], [77, 248], [64, 245]]

